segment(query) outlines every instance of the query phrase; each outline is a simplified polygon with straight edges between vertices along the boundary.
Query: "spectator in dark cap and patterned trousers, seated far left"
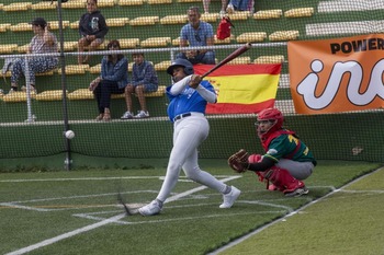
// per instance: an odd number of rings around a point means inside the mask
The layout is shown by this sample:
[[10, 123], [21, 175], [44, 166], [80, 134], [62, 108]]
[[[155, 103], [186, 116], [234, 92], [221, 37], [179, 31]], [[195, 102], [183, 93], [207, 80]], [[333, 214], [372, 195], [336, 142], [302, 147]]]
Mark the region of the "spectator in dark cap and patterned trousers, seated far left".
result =
[[[30, 47], [27, 48], [27, 54], [53, 54], [57, 53], [57, 38], [49, 32], [47, 22], [43, 18], [36, 18], [31, 22], [33, 33], [35, 34], [32, 37]], [[31, 91], [36, 92], [35, 90], [35, 73], [42, 73], [50, 71], [58, 66], [58, 58], [54, 56], [35, 56], [29, 58], [27, 61], [27, 72], [26, 72], [26, 62], [25, 58], [16, 58], [13, 61], [12, 66], [12, 76], [11, 76], [11, 90], [18, 91], [18, 81], [21, 76], [29, 73], [29, 84]], [[22, 90], [26, 88], [23, 86]]]

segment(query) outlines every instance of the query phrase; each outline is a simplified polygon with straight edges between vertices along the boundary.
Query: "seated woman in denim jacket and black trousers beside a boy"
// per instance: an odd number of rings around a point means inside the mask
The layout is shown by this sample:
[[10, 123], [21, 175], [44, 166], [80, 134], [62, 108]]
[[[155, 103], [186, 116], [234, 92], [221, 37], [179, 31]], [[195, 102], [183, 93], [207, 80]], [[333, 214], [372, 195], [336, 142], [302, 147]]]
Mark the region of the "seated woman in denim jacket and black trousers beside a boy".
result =
[[[120, 42], [114, 39], [108, 44], [109, 50], [118, 50]], [[97, 120], [111, 120], [111, 94], [122, 94], [128, 83], [128, 60], [122, 54], [111, 53], [101, 60], [101, 74], [94, 79], [89, 90], [93, 91], [98, 102]]]

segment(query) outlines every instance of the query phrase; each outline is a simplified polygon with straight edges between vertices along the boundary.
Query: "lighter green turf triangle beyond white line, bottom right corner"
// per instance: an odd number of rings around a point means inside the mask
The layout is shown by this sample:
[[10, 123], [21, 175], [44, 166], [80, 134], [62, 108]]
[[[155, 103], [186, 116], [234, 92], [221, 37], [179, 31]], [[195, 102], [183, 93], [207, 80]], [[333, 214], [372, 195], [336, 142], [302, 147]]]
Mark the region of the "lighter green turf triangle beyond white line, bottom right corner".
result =
[[375, 172], [219, 254], [383, 254], [383, 177]]

